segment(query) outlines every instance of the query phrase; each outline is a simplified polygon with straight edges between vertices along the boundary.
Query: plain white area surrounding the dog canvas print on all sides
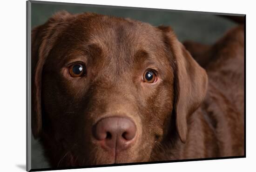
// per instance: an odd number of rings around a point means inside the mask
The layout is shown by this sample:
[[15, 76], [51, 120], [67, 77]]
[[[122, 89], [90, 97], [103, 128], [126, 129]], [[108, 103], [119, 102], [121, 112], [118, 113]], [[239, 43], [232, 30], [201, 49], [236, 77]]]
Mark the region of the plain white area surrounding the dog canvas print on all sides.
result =
[[[247, 14], [246, 57], [247, 57], [247, 99], [246, 99], [246, 149], [245, 159], [224, 159], [168, 164], [131, 165], [104, 168], [88, 168], [64, 171], [76, 172], [170, 172], [198, 171], [241, 172], [255, 169], [255, 97], [254, 73], [255, 54], [255, 5], [253, 1], [234, 0], [51, 0], [71, 3], [86, 3], [128, 7], [149, 7], [176, 10], [192, 10], [218, 13]], [[5, 0], [1, 2], [1, 55], [0, 55], [0, 171], [25, 171], [26, 165], [26, 1]], [[63, 170], [61, 172], [64, 172]]]

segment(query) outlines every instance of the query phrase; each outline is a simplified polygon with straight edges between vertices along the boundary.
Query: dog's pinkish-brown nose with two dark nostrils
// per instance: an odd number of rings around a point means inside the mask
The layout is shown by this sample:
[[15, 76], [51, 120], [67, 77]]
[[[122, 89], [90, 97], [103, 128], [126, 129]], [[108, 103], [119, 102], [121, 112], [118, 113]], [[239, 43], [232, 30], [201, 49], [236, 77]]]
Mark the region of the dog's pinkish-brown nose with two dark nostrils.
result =
[[108, 117], [94, 125], [93, 133], [103, 147], [121, 151], [135, 141], [136, 126], [130, 119]]

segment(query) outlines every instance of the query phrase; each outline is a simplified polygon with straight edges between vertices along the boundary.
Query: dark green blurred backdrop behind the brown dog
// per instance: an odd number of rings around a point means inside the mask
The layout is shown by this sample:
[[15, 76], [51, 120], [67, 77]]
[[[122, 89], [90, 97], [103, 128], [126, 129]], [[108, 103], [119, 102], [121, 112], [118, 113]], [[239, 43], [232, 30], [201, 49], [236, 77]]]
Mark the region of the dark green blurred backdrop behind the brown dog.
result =
[[[231, 27], [236, 26], [231, 20], [209, 13], [191, 13], [186, 11], [102, 7], [82, 4], [42, 4], [33, 1], [31, 4], [31, 27], [45, 23], [54, 13], [66, 10], [69, 13], [93, 12], [148, 22], [153, 26], [171, 26], [178, 39], [194, 40], [203, 44], [213, 44]], [[43, 155], [43, 148], [38, 140], [32, 138], [32, 169], [50, 167]]]

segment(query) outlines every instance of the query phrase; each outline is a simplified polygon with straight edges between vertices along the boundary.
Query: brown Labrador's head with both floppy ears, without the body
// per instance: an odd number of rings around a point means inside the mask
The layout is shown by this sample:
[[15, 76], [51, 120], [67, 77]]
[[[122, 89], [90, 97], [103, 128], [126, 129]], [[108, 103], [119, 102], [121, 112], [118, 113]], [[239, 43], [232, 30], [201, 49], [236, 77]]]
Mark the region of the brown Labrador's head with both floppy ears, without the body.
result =
[[32, 58], [33, 134], [54, 166], [154, 159], [172, 129], [185, 142], [207, 85], [168, 27], [97, 14], [35, 28]]

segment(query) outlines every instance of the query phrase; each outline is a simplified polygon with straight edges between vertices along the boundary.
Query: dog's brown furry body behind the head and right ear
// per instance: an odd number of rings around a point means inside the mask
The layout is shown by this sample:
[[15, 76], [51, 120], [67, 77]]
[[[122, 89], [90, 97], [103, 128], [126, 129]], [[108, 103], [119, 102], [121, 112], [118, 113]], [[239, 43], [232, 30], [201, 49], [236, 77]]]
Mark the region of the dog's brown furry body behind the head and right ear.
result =
[[[177, 143], [171, 159], [244, 154], [244, 30], [238, 26], [212, 46], [186, 41], [186, 48], [208, 74], [208, 92], [189, 121], [189, 142]], [[159, 158], [162, 157], [162, 154]]]

